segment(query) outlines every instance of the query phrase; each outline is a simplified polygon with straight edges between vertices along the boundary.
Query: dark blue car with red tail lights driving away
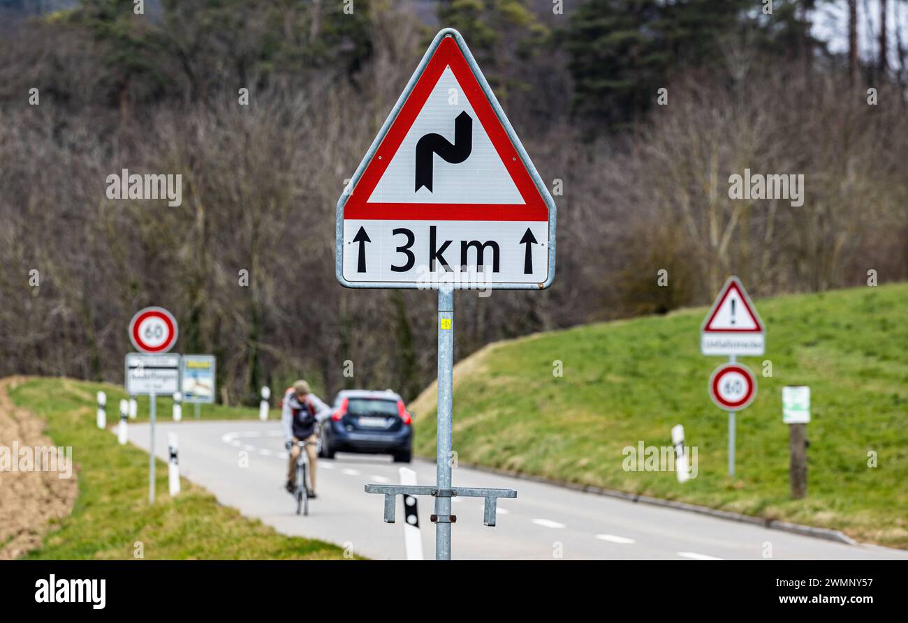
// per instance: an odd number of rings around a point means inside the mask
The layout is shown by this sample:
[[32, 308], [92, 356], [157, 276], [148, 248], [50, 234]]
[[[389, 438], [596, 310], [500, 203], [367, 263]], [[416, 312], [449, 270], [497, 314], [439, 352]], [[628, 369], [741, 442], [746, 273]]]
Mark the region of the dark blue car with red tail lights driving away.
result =
[[334, 413], [321, 424], [321, 456], [334, 453], [390, 454], [394, 462], [413, 456], [413, 416], [400, 395], [387, 390], [344, 390], [334, 398]]

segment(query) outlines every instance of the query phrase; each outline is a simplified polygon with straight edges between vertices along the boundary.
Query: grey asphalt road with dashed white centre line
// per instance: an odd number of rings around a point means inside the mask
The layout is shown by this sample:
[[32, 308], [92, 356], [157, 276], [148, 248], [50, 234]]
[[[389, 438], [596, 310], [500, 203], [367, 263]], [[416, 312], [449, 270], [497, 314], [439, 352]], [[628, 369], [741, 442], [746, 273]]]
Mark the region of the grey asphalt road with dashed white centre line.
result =
[[[295, 514], [283, 490], [286, 454], [276, 422], [159, 422], [155, 453], [166, 461], [167, 433], [177, 433], [181, 475], [285, 534], [337, 543], [371, 559], [403, 559], [404, 513], [382, 521], [383, 496], [363, 491], [367, 482], [400, 482], [401, 463], [388, 456], [338, 453], [319, 460], [319, 498], [308, 517]], [[130, 424], [130, 441], [147, 450], [148, 425]], [[248, 466], [241, 467], [241, 453]], [[435, 463], [414, 460], [419, 484], [435, 483]], [[594, 493], [508, 476], [454, 469], [454, 486], [516, 489], [516, 500], [498, 502], [498, 526], [482, 523], [478, 498], [453, 499], [451, 558], [485, 560], [908, 560], [908, 551], [849, 546], [784, 531], [717, 519], [689, 511], [623, 501]], [[435, 557], [432, 499], [419, 498], [426, 559]]]

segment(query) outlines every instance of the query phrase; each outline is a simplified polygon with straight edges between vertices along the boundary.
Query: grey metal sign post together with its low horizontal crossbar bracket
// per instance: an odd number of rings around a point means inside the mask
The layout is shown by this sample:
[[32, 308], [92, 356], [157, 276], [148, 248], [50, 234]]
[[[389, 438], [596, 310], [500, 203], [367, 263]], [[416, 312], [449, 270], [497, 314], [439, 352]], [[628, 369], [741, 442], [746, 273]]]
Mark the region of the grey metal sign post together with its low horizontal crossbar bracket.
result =
[[435, 498], [435, 559], [450, 560], [451, 524], [457, 517], [451, 514], [451, 498], [485, 498], [483, 523], [494, 526], [498, 498], [516, 498], [513, 489], [484, 489], [480, 487], [451, 487], [451, 428], [454, 366], [454, 291], [450, 285], [439, 287], [439, 405], [438, 441], [436, 444], [437, 485], [367, 484], [367, 493], [385, 496], [384, 519], [394, 523], [398, 495], [431, 495]]

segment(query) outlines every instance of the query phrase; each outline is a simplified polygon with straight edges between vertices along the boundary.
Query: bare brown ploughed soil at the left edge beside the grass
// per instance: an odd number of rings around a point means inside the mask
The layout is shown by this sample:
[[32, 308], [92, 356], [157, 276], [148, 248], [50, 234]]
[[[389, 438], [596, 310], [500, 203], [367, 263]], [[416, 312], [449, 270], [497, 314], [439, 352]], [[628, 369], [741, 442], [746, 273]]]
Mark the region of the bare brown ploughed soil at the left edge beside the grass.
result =
[[[54, 445], [43, 433], [44, 422], [16, 408], [7, 394], [9, 388], [24, 381], [23, 377], [0, 379], [0, 446], [10, 453], [15, 441], [20, 448]], [[61, 473], [0, 471], [0, 560], [34, 550], [50, 522], [73, 510], [78, 495], [75, 466], [70, 478], [59, 478]]]

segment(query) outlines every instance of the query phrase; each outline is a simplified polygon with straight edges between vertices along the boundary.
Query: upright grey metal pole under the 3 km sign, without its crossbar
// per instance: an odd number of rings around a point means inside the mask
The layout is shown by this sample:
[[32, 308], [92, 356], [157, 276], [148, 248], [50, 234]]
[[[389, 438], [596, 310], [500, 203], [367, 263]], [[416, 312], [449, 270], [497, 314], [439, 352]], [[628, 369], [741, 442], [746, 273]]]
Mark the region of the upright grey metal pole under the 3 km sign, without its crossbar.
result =
[[[453, 406], [454, 289], [439, 287], [439, 408], [435, 471], [439, 489], [451, 488], [451, 411]], [[451, 558], [451, 499], [435, 496], [435, 560]]]

